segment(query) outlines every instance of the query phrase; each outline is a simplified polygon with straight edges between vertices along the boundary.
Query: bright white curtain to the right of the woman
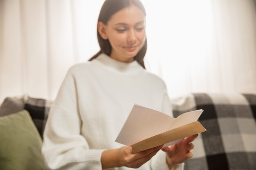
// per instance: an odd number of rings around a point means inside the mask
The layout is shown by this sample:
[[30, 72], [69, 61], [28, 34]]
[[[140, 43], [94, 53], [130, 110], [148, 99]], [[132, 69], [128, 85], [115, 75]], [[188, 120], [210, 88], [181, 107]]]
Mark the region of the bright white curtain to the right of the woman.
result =
[[166, 81], [171, 97], [191, 92], [256, 93], [253, 0], [158, 2], [157, 14], [147, 18], [147, 57], [150, 65], [158, 63], [153, 71]]

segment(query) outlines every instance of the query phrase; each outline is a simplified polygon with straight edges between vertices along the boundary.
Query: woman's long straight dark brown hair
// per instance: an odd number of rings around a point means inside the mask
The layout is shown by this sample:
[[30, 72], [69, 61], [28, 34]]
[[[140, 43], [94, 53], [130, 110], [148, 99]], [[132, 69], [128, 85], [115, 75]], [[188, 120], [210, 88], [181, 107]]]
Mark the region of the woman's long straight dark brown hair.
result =
[[[146, 10], [143, 6], [143, 4], [140, 2], [140, 0], [106, 0], [102, 7], [101, 11], [99, 13], [98, 22], [103, 22], [103, 24], [107, 24], [110, 20], [111, 16], [114, 15], [116, 12], [120, 11], [121, 9], [124, 9], [126, 7], [129, 7], [131, 4], [134, 4], [136, 7], [138, 7], [145, 15], [146, 17]], [[89, 61], [92, 61], [94, 58], [97, 58], [101, 53], [105, 53], [106, 55], [110, 55], [111, 53], [111, 45], [109, 40], [104, 40], [101, 35], [99, 34], [99, 30], [97, 27], [97, 38], [100, 46], [100, 51], [96, 53], [94, 56], [92, 56]], [[141, 48], [141, 50], [137, 53], [135, 56], [135, 60], [143, 67], [144, 65], [144, 57], [146, 55], [147, 51], [147, 38], [145, 40], [144, 46]]]

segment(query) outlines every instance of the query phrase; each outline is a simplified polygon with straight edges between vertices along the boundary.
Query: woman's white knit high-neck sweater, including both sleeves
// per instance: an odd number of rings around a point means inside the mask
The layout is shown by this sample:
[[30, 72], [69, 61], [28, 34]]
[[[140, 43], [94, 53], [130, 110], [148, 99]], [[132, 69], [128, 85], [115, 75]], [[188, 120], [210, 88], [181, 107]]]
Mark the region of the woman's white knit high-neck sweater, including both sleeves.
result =
[[[44, 131], [43, 156], [53, 170], [101, 170], [103, 150], [115, 142], [134, 104], [171, 114], [162, 79], [136, 61], [105, 54], [72, 66], [51, 107]], [[182, 169], [181, 164], [176, 169]], [[129, 170], [121, 167], [115, 170]], [[168, 170], [160, 150], [139, 170]]]

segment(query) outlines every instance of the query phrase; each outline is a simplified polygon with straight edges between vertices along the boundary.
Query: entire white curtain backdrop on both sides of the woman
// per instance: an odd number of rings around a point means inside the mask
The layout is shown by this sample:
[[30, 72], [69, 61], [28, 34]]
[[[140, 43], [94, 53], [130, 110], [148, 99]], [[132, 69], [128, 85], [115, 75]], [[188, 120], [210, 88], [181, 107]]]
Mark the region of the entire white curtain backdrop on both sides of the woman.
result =
[[[256, 93], [253, 0], [141, 0], [149, 71], [170, 97]], [[99, 50], [103, 0], [0, 0], [0, 101], [54, 99], [68, 68]]]

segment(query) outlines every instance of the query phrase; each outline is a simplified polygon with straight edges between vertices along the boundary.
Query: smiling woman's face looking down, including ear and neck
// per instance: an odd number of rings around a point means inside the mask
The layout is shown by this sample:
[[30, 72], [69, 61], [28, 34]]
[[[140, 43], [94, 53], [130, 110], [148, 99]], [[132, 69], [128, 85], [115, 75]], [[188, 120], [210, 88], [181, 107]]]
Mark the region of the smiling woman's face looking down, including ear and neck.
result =
[[106, 25], [99, 22], [98, 30], [112, 46], [110, 57], [132, 62], [146, 40], [145, 16], [138, 7], [130, 5], [112, 15]]

